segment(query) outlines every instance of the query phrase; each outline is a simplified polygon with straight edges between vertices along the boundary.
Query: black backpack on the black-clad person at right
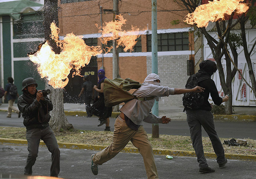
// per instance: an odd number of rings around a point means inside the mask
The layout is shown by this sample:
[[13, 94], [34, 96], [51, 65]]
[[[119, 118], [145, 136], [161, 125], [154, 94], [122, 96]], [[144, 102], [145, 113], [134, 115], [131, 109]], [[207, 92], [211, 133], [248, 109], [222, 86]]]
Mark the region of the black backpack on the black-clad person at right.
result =
[[[198, 82], [208, 79], [209, 77], [197, 78], [195, 74], [191, 76], [190, 82], [186, 85], [187, 89], [197, 86]], [[204, 104], [204, 97], [198, 92], [187, 92], [182, 98], [183, 106], [188, 109], [199, 109]]]

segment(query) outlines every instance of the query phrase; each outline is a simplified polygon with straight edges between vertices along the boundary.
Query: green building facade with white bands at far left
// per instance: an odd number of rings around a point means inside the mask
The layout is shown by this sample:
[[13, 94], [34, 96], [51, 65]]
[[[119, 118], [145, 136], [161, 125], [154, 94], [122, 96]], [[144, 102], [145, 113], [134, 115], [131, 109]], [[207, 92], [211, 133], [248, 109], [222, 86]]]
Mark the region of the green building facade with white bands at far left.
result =
[[44, 40], [43, 5], [23, 0], [0, 3], [0, 6], [1, 86], [4, 87], [7, 78], [12, 77], [21, 94], [22, 81], [33, 77], [39, 89], [44, 89], [45, 81], [27, 56]]

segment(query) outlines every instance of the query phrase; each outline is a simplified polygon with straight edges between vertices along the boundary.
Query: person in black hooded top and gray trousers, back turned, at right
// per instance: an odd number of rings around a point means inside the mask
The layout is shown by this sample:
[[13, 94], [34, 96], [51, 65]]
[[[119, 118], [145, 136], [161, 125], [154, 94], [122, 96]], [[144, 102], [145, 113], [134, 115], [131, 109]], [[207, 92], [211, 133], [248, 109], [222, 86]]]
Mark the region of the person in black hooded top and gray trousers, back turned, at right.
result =
[[[190, 137], [192, 140], [193, 148], [195, 149], [197, 155], [197, 161], [199, 163], [199, 172], [210, 173], [215, 172], [214, 169], [211, 169], [206, 162], [204, 157], [204, 149], [202, 143], [202, 126], [204, 130], [209, 135], [211, 144], [213, 146], [214, 152], [217, 155], [217, 163], [219, 167], [223, 167], [227, 163], [225, 158], [224, 149], [222, 143], [215, 131], [213, 114], [211, 113], [212, 105], [209, 103], [208, 98], [211, 94], [211, 98], [216, 105], [220, 105], [222, 102], [229, 100], [229, 96], [226, 95], [224, 98], [219, 97], [218, 90], [213, 80], [211, 80], [211, 75], [214, 74], [217, 70], [217, 65], [213, 61], [204, 60], [199, 64], [200, 70], [196, 73], [196, 77], [209, 77], [206, 80], [198, 82], [200, 87], [204, 88], [204, 91], [201, 95], [204, 97], [204, 103], [199, 107], [199, 109], [188, 109], [184, 108], [184, 111], [187, 114], [187, 122], [190, 130]], [[190, 82], [191, 76], [187, 80]], [[186, 86], [187, 86], [186, 84]]]

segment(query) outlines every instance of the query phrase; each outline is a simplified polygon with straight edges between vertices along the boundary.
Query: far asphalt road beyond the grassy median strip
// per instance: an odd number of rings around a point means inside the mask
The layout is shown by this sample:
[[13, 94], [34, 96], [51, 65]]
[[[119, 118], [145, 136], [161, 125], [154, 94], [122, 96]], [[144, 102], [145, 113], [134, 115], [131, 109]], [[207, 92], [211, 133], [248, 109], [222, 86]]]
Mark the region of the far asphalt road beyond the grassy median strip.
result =
[[[18, 118], [16, 114], [12, 118], [6, 118], [7, 112], [0, 111], [0, 126], [24, 127], [23, 118]], [[105, 125], [98, 127], [98, 118], [66, 116], [69, 123], [76, 129], [103, 131]], [[111, 131], [114, 130], [115, 118], [110, 118]], [[221, 138], [250, 138], [256, 139], [256, 122], [221, 122], [215, 121], [215, 129]], [[148, 134], [152, 134], [152, 124], [144, 122], [144, 128]], [[189, 128], [186, 121], [171, 121], [169, 124], [159, 124], [159, 134], [189, 136]], [[202, 135], [208, 136], [202, 129]]]

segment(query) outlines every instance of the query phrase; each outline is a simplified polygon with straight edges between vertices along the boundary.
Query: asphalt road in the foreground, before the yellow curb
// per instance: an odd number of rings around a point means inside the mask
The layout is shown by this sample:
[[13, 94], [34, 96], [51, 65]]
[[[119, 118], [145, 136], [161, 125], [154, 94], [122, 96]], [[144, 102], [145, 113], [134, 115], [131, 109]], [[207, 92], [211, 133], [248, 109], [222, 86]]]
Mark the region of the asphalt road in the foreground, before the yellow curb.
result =
[[[60, 148], [60, 178], [65, 179], [147, 179], [143, 158], [135, 153], [118, 153], [113, 159], [99, 166], [99, 174], [91, 172], [91, 155], [97, 151]], [[0, 178], [13, 178], [22, 175], [27, 146], [0, 145]], [[198, 172], [197, 159], [177, 157], [168, 160], [165, 156], [155, 155], [155, 163], [160, 179], [255, 179], [256, 161], [228, 160], [219, 168], [214, 159], [207, 159], [214, 173]], [[33, 175], [49, 176], [51, 154], [46, 147], [39, 147]], [[18, 178], [13, 178], [18, 179]]]

